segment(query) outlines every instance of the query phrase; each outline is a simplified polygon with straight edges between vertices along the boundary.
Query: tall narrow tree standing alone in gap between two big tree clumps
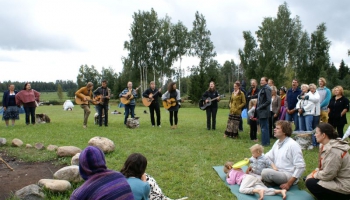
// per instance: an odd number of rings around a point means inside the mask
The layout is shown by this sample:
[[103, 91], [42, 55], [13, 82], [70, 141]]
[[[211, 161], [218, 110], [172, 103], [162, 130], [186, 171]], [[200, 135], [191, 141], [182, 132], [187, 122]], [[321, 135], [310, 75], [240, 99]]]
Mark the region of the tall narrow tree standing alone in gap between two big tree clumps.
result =
[[207, 89], [209, 78], [206, 75], [206, 70], [210, 65], [211, 59], [216, 56], [210, 35], [204, 15], [199, 14], [197, 11], [193, 29], [190, 33], [190, 55], [197, 56], [200, 60], [198, 66], [192, 66], [191, 68], [191, 87], [189, 92], [193, 103], [199, 102], [202, 93]]

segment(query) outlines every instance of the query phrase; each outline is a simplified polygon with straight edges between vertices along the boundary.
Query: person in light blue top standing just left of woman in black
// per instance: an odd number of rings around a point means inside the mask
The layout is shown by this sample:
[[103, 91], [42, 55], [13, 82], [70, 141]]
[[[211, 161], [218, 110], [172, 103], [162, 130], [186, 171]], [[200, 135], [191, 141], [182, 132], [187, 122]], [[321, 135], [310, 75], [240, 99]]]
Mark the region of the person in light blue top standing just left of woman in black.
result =
[[320, 120], [322, 122], [328, 123], [328, 104], [331, 100], [331, 91], [326, 87], [326, 79], [321, 77], [318, 79], [318, 85], [320, 86], [317, 88], [318, 93], [320, 94], [320, 103], [321, 103], [321, 117]]

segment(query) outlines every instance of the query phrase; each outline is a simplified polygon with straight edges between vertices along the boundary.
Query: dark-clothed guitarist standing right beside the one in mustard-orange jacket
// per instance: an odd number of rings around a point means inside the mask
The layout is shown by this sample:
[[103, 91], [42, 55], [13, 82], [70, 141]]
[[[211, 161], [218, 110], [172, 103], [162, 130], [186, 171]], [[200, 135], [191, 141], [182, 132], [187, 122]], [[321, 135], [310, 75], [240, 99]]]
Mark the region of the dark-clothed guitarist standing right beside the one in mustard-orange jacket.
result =
[[107, 81], [102, 81], [102, 86], [94, 91], [94, 96], [100, 95], [100, 103], [97, 105], [98, 125], [102, 126], [102, 117], [104, 116], [104, 125], [108, 126], [108, 103], [111, 96], [111, 89], [107, 87]]

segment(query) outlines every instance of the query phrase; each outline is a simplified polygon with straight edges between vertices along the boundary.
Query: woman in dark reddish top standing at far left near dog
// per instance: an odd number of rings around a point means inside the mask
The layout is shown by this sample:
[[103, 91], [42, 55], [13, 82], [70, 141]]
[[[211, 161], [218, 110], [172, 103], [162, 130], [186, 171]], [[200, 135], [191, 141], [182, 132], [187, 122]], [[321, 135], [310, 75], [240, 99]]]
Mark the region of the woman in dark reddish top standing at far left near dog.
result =
[[37, 102], [39, 102], [40, 93], [33, 90], [30, 83], [24, 84], [23, 90], [16, 95], [16, 104], [23, 105], [26, 113], [26, 124], [29, 125], [29, 116], [31, 117], [31, 123], [35, 124], [35, 108]]

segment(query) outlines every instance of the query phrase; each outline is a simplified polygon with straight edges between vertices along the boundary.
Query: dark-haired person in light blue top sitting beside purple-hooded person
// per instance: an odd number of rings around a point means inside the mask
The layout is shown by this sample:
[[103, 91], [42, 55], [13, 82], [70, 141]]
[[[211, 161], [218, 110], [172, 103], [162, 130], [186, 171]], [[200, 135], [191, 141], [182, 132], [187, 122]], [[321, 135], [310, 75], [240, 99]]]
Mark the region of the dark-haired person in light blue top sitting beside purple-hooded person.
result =
[[148, 200], [151, 187], [146, 180], [147, 159], [140, 153], [131, 154], [120, 172], [127, 178], [135, 200]]

